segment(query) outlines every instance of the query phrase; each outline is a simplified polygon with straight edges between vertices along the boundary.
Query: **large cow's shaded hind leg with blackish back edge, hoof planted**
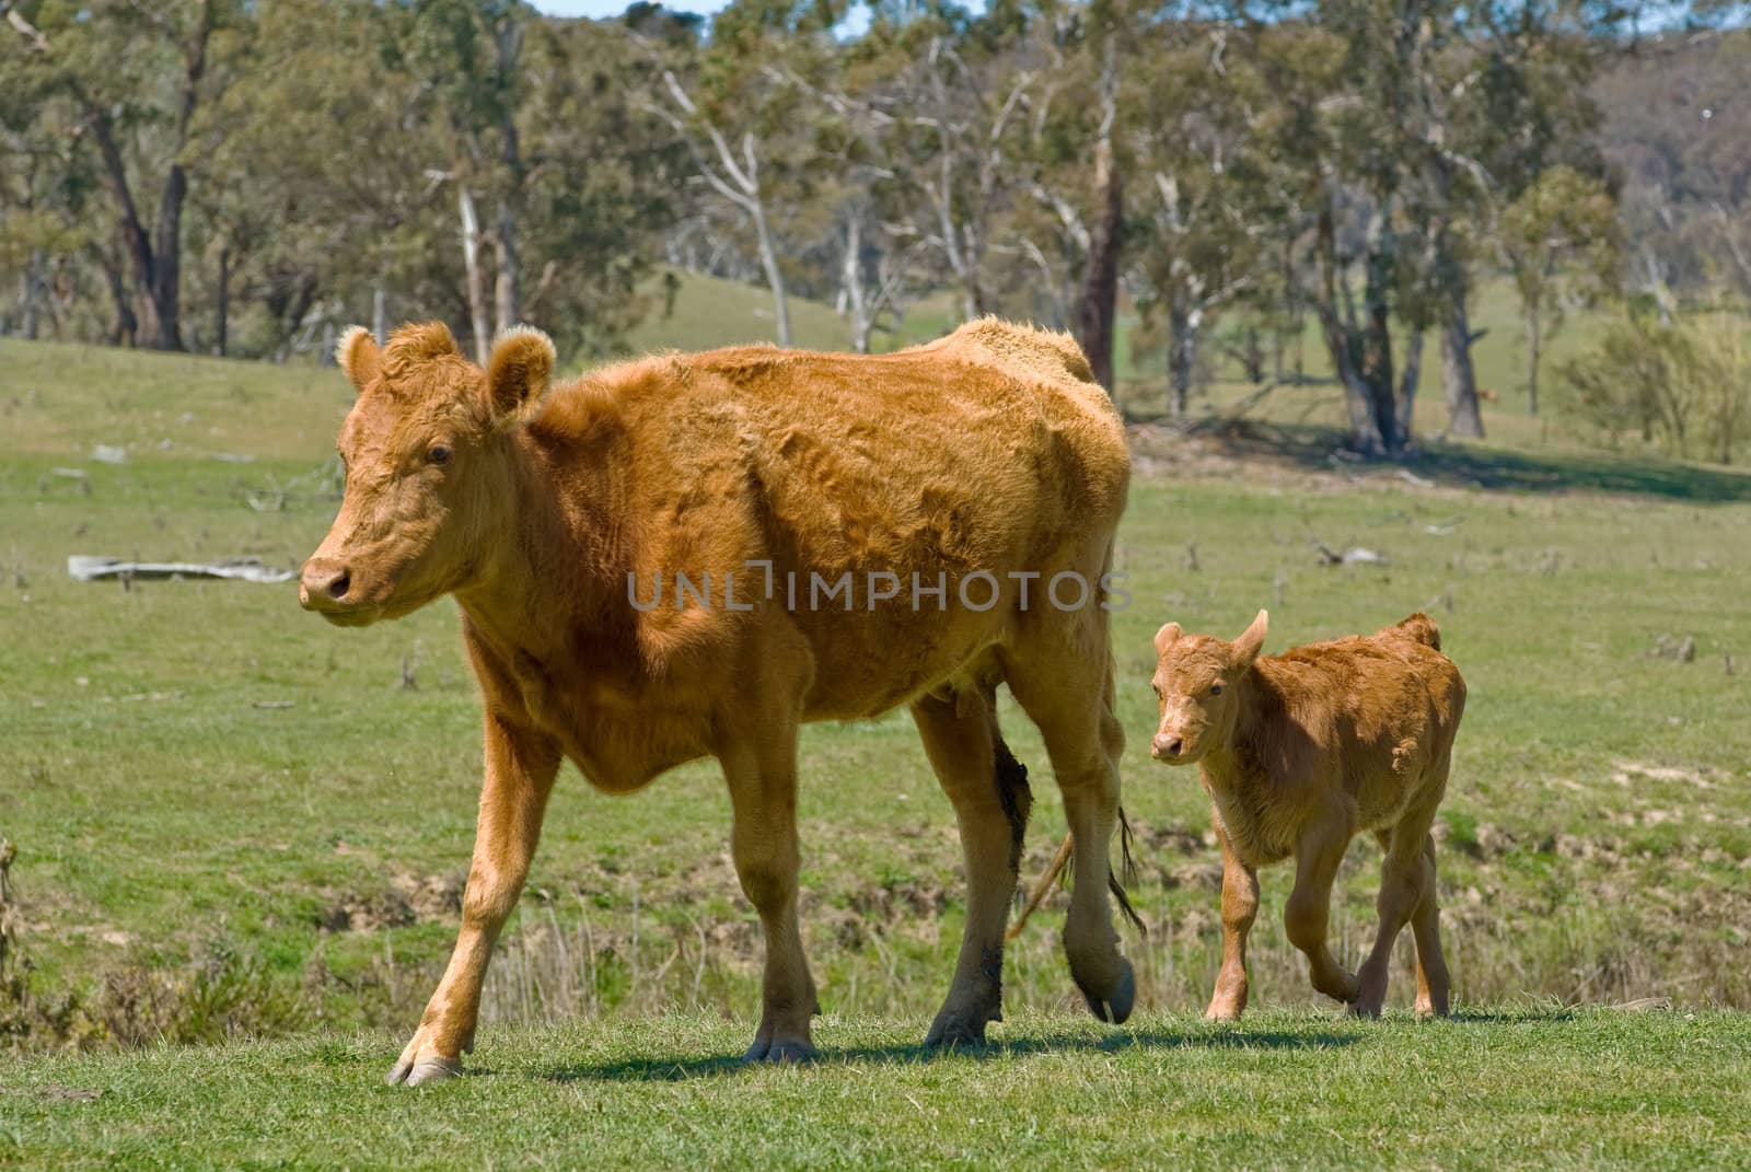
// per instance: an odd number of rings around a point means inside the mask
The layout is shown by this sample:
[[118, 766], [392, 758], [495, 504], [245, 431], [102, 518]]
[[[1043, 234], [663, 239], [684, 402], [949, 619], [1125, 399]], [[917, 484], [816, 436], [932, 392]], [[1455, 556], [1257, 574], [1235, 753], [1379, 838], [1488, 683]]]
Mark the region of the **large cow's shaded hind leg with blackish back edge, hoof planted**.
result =
[[954, 802], [967, 860], [961, 957], [925, 1044], [975, 1044], [984, 1041], [988, 1021], [1003, 1020], [1003, 928], [1033, 794], [1028, 771], [998, 732], [996, 697], [989, 688], [926, 695], [912, 704], [912, 720], [942, 790]]

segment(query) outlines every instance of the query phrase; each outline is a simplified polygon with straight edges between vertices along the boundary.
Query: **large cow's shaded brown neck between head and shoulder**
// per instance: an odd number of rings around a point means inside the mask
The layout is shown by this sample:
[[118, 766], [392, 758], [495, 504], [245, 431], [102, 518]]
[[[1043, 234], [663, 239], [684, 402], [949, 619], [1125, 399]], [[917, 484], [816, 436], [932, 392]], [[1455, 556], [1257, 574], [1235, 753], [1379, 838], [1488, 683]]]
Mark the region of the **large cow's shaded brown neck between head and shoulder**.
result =
[[504, 506], [494, 510], [499, 524], [480, 534], [475, 582], [457, 590], [457, 601], [478, 629], [511, 650], [552, 653], [576, 641], [580, 629], [608, 634], [629, 564], [608, 517], [620, 498], [613, 464], [560, 470], [522, 433], [506, 443], [508, 491]]

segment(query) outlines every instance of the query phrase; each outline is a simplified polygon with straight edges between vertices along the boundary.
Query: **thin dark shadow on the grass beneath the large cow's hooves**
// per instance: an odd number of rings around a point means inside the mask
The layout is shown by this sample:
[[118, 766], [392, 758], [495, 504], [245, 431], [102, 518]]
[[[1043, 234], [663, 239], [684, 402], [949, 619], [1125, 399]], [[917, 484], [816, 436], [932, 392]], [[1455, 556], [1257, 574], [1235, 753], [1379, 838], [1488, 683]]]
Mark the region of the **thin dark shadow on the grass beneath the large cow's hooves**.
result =
[[[956, 1046], [954, 1049], [932, 1049], [925, 1046], [847, 1046], [842, 1049], [823, 1049], [811, 1063], [816, 1067], [851, 1065], [851, 1063], [886, 1063], [886, 1065], [925, 1065], [933, 1062], [993, 1062], [1002, 1058], [1024, 1058], [1028, 1055], [1047, 1055], [1061, 1051], [1101, 1051], [1117, 1053], [1122, 1049], [1336, 1049], [1354, 1046], [1357, 1035], [1336, 1034], [1329, 1030], [1287, 1032], [1261, 1030], [1138, 1030], [1135, 1034], [1112, 1034], [1107, 1037], [1087, 1037], [1065, 1034], [1056, 1037], [1023, 1037], [1007, 1042], [989, 1042], [984, 1046]], [[741, 1058], [723, 1055], [718, 1058], [623, 1058], [602, 1063], [562, 1065], [548, 1070], [543, 1077], [555, 1083], [595, 1081], [595, 1083], [679, 1083], [685, 1079], [718, 1077], [751, 1069]]]

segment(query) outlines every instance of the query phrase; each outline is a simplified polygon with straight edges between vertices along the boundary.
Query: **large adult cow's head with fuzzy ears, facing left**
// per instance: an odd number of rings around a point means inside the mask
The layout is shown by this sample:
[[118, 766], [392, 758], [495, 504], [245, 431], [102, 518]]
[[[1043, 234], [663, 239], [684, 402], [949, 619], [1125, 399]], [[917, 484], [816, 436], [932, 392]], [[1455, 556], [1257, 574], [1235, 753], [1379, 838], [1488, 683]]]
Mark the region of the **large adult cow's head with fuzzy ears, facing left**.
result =
[[364, 625], [475, 578], [504, 520], [510, 436], [546, 389], [553, 343], [511, 329], [482, 370], [432, 322], [403, 326], [383, 349], [348, 329], [334, 356], [359, 391], [334, 443], [347, 494], [305, 562], [298, 601]]

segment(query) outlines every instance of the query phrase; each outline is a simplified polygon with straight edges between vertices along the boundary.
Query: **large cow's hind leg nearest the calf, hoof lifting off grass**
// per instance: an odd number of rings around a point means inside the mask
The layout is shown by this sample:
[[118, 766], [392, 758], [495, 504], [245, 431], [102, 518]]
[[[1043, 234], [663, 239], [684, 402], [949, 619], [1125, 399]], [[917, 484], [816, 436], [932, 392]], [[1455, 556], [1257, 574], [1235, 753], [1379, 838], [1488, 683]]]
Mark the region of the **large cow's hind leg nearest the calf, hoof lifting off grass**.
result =
[[1124, 752], [1124, 729], [1114, 715], [1107, 615], [1082, 610], [1051, 618], [1063, 625], [1042, 624], [1045, 629], [1033, 629], [1017, 641], [1005, 676], [1023, 710], [1040, 725], [1065, 797], [1075, 850], [1075, 886], [1065, 920], [1070, 976], [1089, 1011], [1101, 1021], [1117, 1023], [1131, 1016], [1136, 978], [1131, 962], [1119, 955], [1107, 899], [1108, 851], [1119, 822], [1119, 755]]

